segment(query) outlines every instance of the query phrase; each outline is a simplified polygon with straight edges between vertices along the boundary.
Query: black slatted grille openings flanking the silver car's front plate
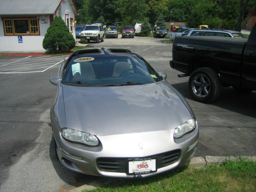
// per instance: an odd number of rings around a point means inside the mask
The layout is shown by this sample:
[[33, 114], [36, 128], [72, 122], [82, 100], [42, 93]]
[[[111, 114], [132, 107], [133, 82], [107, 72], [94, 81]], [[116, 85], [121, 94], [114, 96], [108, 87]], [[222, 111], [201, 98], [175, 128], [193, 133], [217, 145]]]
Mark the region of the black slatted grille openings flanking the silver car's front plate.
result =
[[[173, 151], [152, 155], [152, 156], [147, 156], [147, 157], [156, 157], [157, 158], [156, 167], [159, 169], [176, 162], [180, 157], [180, 150], [173, 150]], [[138, 157], [134, 157], [134, 158], [138, 158]], [[140, 158], [146, 158], [146, 157], [140, 157]], [[128, 158], [98, 158], [97, 164], [102, 171], [125, 173], [127, 159]], [[133, 159], [133, 158], [129, 158], [129, 159]]]

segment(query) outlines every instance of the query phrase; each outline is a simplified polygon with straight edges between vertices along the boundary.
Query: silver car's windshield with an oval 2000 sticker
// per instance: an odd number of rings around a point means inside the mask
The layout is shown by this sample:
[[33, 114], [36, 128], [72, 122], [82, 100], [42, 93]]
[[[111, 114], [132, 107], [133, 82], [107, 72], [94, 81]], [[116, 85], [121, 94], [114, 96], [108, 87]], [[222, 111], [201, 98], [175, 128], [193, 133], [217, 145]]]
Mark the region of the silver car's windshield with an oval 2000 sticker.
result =
[[62, 83], [74, 86], [123, 86], [160, 81], [160, 76], [136, 55], [79, 55], [68, 63]]

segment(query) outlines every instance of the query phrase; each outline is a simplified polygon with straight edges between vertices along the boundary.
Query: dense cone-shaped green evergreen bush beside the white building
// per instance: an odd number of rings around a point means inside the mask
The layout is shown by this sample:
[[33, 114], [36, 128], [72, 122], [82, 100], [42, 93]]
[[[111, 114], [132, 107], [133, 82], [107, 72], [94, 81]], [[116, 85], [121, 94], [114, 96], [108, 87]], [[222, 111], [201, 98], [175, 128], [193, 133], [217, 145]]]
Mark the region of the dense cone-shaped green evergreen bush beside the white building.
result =
[[74, 37], [61, 17], [56, 16], [44, 36], [43, 48], [50, 53], [69, 52], [76, 45]]

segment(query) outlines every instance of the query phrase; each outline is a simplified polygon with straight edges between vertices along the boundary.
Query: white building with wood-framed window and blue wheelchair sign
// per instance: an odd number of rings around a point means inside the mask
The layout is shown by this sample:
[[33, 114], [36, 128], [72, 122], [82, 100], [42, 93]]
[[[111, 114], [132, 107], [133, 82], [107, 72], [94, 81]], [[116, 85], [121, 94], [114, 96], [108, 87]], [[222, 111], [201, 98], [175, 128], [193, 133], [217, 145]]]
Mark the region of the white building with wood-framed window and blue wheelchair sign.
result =
[[54, 16], [76, 39], [73, 0], [0, 0], [0, 52], [45, 52], [42, 42]]

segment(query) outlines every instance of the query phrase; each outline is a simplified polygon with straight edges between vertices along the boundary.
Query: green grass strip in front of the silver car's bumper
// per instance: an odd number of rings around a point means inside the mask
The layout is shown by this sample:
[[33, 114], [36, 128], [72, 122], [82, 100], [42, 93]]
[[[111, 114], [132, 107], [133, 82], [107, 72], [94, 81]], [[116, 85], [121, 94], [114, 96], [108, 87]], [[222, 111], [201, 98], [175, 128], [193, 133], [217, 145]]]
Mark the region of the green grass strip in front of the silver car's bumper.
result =
[[[84, 190], [83, 192], [86, 192]], [[174, 170], [145, 179], [117, 179], [93, 192], [252, 192], [256, 191], [256, 163], [240, 158], [222, 166]]]

